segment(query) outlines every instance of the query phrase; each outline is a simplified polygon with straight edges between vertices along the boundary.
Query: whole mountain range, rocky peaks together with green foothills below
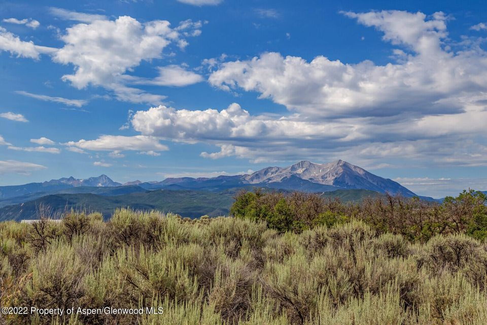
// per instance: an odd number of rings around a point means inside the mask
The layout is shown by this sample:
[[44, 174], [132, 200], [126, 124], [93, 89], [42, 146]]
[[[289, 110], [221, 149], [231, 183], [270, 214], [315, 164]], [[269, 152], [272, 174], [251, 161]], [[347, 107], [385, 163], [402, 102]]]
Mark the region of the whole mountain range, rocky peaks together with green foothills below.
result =
[[[0, 219], [32, 217], [36, 212], [34, 208], [39, 204], [53, 209], [84, 205], [106, 213], [114, 207], [130, 205], [142, 208], [142, 202], [146, 202], [144, 207], [147, 209], [179, 211], [178, 213], [188, 216], [225, 213], [228, 212], [231, 202], [231, 195], [228, 193], [243, 188], [320, 192], [324, 196], [337, 195], [345, 200], [386, 192], [406, 197], [416, 196], [391, 179], [374, 175], [343, 160], [328, 164], [303, 160], [288, 167], [267, 167], [251, 174], [211, 178], [179, 177], [152, 182], [136, 180], [121, 184], [107, 175], [100, 175], [86, 179], [69, 177], [42, 183], [1, 186]], [[178, 197], [179, 203], [171, 205], [171, 199], [168, 201], [166, 196]], [[187, 200], [184, 199], [185, 196]], [[218, 196], [225, 198], [225, 204]], [[198, 204], [192, 204], [191, 197], [197, 197]], [[433, 200], [429, 197], [422, 198]], [[177, 210], [171, 210], [174, 208]]]

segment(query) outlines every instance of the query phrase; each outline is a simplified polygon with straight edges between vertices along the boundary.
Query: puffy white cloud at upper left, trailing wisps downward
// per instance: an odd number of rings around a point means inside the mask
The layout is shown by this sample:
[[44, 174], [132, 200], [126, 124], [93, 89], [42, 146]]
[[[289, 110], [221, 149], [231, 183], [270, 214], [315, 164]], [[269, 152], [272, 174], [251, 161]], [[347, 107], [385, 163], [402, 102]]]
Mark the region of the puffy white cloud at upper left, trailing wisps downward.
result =
[[[93, 20], [89, 24], [76, 24], [66, 29], [60, 38], [65, 45], [56, 52], [53, 60], [73, 64], [75, 73], [63, 76], [78, 89], [89, 84], [112, 90], [119, 100], [135, 103], [160, 104], [166, 96], [146, 93], [125, 85], [131, 79], [125, 73], [140, 65], [143, 60], [162, 57], [162, 51], [174, 43], [184, 48], [186, 36], [197, 36], [201, 22], [182, 22], [171, 28], [167, 20], [141, 23], [129, 16], [115, 20]], [[164, 72], [164, 70], [162, 70]], [[192, 82], [194, 82], [194, 76]], [[186, 79], [188, 80], [188, 73]], [[156, 79], [153, 84], [164, 84]]]

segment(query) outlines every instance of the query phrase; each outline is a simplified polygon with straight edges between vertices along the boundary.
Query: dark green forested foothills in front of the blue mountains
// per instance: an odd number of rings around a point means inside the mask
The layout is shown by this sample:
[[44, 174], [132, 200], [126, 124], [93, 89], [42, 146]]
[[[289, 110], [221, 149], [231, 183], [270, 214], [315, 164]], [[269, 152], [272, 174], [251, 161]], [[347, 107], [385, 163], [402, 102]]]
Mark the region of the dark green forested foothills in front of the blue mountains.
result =
[[[253, 190], [253, 187], [244, 188]], [[153, 190], [147, 191], [139, 186], [122, 187], [74, 187], [52, 192], [31, 193], [5, 200], [0, 200], [0, 221], [37, 219], [39, 210], [48, 210], [49, 214], [62, 214], [66, 210], [88, 210], [110, 218], [115, 209], [161, 210], [197, 218], [202, 215], [211, 217], [228, 215], [236, 192], [242, 188], [225, 191], [194, 190]], [[273, 190], [265, 190], [273, 191]], [[276, 190], [289, 192], [285, 190]], [[358, 202], [367, 196], [381, 195], [367, 190], [337, 190], [320, 194], [323, 197], [338, 197], [342, 202]], [[40, 209], [42, 207], [42, 209]]]

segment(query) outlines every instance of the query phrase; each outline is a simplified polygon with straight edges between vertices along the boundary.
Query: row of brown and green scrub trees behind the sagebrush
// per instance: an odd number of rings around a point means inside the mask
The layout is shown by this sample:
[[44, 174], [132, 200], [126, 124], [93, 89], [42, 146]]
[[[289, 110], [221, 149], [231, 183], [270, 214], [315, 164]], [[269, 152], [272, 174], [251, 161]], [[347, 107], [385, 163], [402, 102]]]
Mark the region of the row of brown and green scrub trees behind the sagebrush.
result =
[[350, 204], [303, 192], [242, 191], [234, 198], [231, 216], [265, 221], [281, 233], [301, 233], [358, 219], [380, 233], [400, 234], [410, 241], [426, 242], [434, 235], [450, 233], [466, 233], [481, 240], [487, 237], [487, 197], [474, 190], [447, 196], [441, 204], [388, 193]]

